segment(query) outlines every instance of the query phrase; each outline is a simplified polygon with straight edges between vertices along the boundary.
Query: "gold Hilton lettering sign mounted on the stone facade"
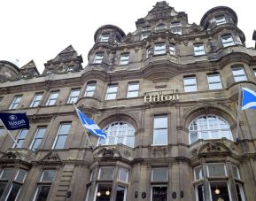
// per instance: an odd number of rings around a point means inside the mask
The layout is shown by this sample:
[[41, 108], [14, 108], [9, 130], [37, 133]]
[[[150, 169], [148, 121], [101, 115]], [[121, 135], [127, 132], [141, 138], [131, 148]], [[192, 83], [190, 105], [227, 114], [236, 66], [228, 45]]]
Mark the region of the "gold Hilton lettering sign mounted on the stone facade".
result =
[[144, 95], [144, 103], [173, 102], [175, 100], [179, 100], [179, 96], [175, 94], [175, 89], [150, 91]]

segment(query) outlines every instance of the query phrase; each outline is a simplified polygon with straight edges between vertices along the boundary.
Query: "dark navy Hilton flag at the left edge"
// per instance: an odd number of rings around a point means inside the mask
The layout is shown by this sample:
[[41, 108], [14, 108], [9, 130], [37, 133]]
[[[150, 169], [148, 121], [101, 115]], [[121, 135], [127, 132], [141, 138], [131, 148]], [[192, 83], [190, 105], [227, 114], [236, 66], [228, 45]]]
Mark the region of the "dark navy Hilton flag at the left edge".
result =
[[8, 130], [29, 128], [29, 120], [26, 113], [0, 112], [0, 119]]

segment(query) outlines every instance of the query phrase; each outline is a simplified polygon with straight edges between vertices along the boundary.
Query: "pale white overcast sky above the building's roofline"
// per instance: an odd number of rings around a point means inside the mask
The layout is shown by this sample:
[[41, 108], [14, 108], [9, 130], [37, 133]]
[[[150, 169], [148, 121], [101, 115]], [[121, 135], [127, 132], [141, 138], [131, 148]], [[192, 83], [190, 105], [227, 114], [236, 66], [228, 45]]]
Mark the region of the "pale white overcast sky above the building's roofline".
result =
[[[112, 24], [126, 34], [136, 30], [156, 0], [0, 0], [0, 60], [21, 67], [34, 59], [40, 73], [43, 64], [70, 44], [82, 55], [83, 65], [94, 43], [98, 27]], [[253, 2], [253, 1], [252, 1]], [[177, 12], [186, 12], [189, 23], [200, 23], [214, 6], [225, 5], [237, 12], [238, 27], [246, 46], [253, 47], [256, 12], [252, 2], [241, 0], [167, 0]], [[244, 3], [244, 4], [243, 4]]]

